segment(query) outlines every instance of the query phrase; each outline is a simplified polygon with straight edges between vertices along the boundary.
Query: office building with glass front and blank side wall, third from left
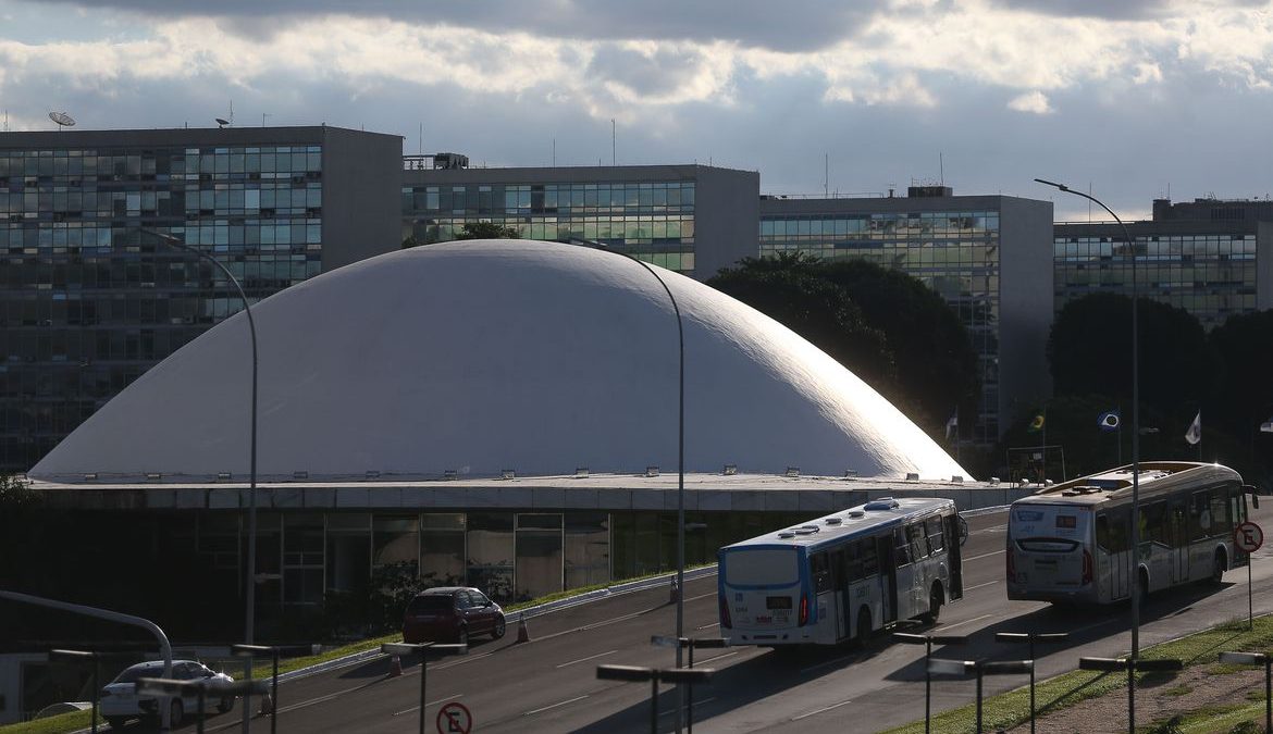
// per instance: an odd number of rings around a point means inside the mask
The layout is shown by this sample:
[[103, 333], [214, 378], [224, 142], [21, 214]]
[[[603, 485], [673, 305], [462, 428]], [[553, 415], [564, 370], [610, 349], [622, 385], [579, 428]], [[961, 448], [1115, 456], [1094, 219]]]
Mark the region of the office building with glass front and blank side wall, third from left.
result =
[[983, 445], [1050, 392], [1051, 237], [1050, 202], [955, 196], [947, 186], [911, 186], [905, 197], [760, 202], [761, 256], [875, 262], [919, 279], [959, 313], [981, 378], [978, 415], [961, 416], [960, 426]]

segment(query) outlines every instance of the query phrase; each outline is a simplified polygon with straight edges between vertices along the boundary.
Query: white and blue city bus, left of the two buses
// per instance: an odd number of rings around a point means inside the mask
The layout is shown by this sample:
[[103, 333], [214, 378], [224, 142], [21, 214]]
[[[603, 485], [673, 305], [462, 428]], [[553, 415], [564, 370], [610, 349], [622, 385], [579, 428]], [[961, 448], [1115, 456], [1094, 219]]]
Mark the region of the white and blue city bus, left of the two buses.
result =
[[726, 546], [721, 634], [732, 645], [834, 645], [936, 621], [964, 595], [964, 528], [952, 500], [881, 497]]

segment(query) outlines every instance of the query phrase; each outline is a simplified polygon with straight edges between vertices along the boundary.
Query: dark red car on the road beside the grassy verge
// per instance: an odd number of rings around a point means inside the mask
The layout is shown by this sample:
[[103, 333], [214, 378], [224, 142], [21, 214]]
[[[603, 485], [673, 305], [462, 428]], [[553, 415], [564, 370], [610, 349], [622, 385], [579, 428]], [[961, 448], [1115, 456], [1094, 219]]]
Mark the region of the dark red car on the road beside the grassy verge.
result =
[[475, 635], [504, 636], [504, 611], [486, 594], [467, 586], [425, 589], [402, 617], [404, 642], [468, 644]]

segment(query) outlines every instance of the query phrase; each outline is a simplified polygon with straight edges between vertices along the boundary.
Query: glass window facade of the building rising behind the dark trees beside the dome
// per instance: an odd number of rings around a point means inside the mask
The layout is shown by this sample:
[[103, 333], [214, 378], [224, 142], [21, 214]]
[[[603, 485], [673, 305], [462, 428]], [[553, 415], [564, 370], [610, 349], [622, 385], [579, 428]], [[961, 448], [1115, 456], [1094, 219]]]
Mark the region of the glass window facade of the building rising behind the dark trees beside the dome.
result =
[[998, 211], [763, 214], [760, 256], [782, 252], [866, 260], [910, 274], [941, 294], [967, 327], [980, 368], [973, 438], [983, 444], [998, 439]]

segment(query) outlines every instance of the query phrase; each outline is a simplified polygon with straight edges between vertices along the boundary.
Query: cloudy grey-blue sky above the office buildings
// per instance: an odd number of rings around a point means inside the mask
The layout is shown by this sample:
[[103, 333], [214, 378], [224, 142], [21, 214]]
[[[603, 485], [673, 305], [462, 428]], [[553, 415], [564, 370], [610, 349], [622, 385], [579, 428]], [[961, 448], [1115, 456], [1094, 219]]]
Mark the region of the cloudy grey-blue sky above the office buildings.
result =
[[[1254, 0], [0, 0], [8, 130], [316, 125], [474, 164], [713, 163], [766, 193], [1273, 193]], [[611, 136], [614, 121], [614, 140]], [[423, 135], [421, 135], [423, 130]]]

